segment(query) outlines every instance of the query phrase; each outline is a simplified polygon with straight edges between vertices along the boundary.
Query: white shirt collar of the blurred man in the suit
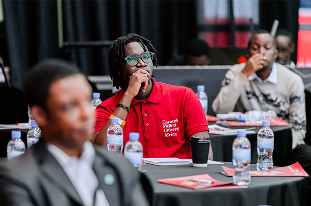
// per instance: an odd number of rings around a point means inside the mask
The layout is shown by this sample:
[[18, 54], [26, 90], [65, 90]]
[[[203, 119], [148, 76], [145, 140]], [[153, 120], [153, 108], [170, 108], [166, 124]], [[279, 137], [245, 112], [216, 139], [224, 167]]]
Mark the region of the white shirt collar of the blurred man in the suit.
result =
[[55, 157], [61, 166], [66, 166], [75, 161], [86, 161], [93, 166], [95, 159], [95, 149], [90, 141], [86, 141], [83, 145], [83, 151], [81, 157], [69, 156], [64, 151], [62, 151], [58, 146], [47, 143], [47, 150]]

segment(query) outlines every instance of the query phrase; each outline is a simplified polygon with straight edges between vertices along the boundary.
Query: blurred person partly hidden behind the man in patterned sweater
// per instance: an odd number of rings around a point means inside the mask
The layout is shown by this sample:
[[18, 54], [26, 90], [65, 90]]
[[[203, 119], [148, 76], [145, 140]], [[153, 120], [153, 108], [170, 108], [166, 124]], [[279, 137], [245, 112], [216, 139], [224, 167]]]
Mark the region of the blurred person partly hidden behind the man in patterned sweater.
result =
[[295, 44], [293, 43], [293, 34], [284, 29], [277, 31], [275, 35], [276, 48], [278, 54], [276, 57], [276, 63], [281, 65], [290, 65], [294, 68], [296, 65], [291, 60], [292, 53], [295, 51]]

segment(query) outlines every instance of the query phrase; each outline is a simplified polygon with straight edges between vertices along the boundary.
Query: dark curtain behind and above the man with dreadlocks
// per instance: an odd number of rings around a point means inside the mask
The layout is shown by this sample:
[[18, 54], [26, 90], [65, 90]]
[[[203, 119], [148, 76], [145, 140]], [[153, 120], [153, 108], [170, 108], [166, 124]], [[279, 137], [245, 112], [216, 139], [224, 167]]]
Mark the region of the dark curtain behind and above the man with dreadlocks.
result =
[[[174, 49], [194, 38], [194, 1], [63, 1], [64, 41], [115, 40], [128, 33], [149, 39], [165, 65]], [[72, 48], [69, 58], [87, 75], [109, 74], [108, 48]]]

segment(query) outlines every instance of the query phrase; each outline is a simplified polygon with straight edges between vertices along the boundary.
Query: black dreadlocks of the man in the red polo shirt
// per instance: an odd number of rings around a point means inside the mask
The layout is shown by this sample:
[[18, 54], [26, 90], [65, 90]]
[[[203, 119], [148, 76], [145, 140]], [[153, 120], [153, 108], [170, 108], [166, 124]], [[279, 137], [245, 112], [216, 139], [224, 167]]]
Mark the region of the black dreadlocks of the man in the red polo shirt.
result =
[[112, 79], [112, 86], [115, 86], [117, 89], [122, 88], [123, 82], [121, 77], [118, 75], [118, 72], [121, 71], [121, 63], [124, 62], [126, 58], [125, 46], [131, 42], [139, 42], [142, 44], [145, 51], [151, 51], [153, 55], [153, 65], [158, 67], [157, 63], [157, 50], [154, 49], [151, 42], [144, 37], [138, 34], [128, 34], [123, 37], [116, 39], [108, 50], [108, 63], [110, 68], [110, 78]]

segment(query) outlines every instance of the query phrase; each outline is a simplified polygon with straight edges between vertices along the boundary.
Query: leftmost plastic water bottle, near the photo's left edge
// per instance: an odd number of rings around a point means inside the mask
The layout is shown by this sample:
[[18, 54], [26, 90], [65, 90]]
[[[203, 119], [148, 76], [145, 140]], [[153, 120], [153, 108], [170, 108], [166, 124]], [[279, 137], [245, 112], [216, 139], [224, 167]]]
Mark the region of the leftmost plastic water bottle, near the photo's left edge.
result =
[[21, 132], [12, 131], [11, 134], [12, 139], [9, 141], [7, 147], [7, 155], [9, 160], [24, 154], [24, 152], [26, 151], [25, 143], [20, 139]]

